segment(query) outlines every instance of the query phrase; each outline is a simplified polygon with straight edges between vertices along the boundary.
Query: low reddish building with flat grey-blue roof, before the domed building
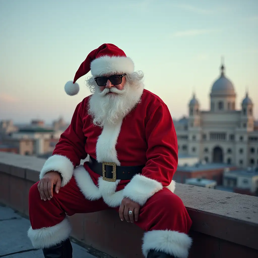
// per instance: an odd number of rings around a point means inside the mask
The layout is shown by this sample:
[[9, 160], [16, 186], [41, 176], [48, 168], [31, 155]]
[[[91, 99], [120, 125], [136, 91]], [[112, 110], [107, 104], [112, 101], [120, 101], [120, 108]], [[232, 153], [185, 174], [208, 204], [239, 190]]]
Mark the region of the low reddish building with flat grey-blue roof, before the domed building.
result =
[[173, 180], [178, 183], [186, 183], [189, 178], [202, 178], [214, 180], [217, 185], [221, 185], [223, 173], [228, 170], [236, 170], [236, 166], [219, 163], [197, 163], [193, 166], [178, 166]]

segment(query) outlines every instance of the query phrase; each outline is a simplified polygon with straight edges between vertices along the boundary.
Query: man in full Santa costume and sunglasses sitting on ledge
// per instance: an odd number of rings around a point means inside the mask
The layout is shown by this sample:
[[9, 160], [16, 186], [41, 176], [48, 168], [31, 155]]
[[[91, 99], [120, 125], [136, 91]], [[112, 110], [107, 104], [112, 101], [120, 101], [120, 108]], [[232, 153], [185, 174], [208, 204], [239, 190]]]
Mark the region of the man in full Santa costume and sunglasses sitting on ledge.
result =
[[89, 71], [93, 94], [76, 107], [29, 191], [28, 237], [44, 257], [71, 258], [67, 215], [114, 208], [145, 231], [144, 257], [188, 257], [192, 222], [173, 193], [178, 145], [166, 104], [144, 89], [142, 73], [113, 44], [88, 54], [67, 94], [78, 93], [76, 80]]

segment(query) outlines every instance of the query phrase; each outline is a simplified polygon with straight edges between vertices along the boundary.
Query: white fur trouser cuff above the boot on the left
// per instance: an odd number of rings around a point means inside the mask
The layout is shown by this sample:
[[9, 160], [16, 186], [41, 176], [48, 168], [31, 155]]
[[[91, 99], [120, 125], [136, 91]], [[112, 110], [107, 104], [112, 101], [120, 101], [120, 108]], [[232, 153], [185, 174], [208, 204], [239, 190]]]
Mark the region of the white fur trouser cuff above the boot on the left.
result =
[[67, 218], [53, 227], [28, 230], [28, 237], [34, 248], [49, 248], [66, 240], [71, 233], [71, 225]]

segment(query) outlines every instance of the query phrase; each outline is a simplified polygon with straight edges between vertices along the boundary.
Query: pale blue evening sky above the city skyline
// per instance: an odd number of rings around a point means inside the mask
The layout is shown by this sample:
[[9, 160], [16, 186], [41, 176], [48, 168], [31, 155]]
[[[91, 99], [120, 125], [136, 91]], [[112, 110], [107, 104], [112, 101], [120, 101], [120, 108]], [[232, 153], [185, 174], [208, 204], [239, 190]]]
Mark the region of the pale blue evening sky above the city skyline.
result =
[[68, 96], [87, 54], [103, 43], [125, 51], [173, 118], [188, 113], [193, 89], [202, 109], [219, 76], [221, 55], [237, 92], [248, 86], [258, 118], [256, 0], [0, 0], [0, 119], [70, 121], [90, 92]]

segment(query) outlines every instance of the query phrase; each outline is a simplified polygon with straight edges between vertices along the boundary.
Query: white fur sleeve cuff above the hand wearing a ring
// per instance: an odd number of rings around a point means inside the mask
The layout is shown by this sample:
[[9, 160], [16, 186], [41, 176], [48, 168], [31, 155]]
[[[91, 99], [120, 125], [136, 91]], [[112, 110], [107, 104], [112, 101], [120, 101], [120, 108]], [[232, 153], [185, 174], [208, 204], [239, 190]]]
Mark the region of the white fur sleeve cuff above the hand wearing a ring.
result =
[[125, 186], [123, 195], [143, 206], [154, 193], [162, 188], [163, 186], [160, 182], [141, 174], [136, 174]]

